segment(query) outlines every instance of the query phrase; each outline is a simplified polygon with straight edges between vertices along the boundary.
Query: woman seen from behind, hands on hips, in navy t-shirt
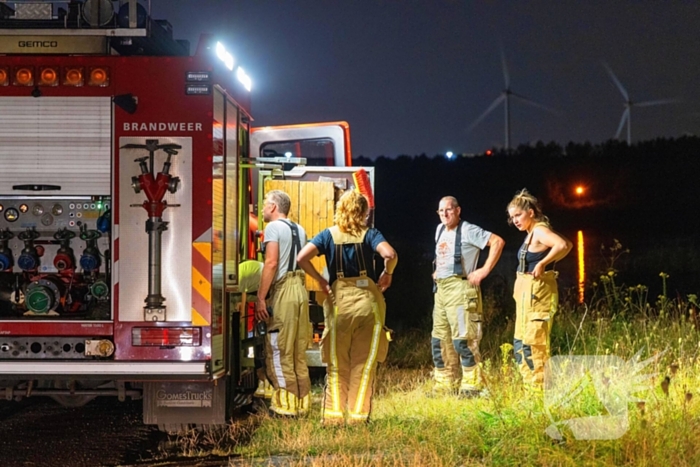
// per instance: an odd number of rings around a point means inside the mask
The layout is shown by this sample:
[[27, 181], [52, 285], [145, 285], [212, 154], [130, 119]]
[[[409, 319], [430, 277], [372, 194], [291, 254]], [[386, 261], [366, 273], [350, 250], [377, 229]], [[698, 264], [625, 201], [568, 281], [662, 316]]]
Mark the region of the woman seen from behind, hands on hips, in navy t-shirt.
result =
[[[335, 225], [314, 237], [297, 257], [302, 269], [328, 292], [321, 340], [328, 365], [324, 424], [369, 421], [377, 363], [388, 351], [383, 292], [391, 286], [398, 257], [377, 229], [367, 228], [368, 214], [367, 199], [346, 192], [336, 205]], [[375, 252], [384, 260], [381, 274], [374, 269]], [[317, 255], [326, 257], [330, 285], [311, 264]]]

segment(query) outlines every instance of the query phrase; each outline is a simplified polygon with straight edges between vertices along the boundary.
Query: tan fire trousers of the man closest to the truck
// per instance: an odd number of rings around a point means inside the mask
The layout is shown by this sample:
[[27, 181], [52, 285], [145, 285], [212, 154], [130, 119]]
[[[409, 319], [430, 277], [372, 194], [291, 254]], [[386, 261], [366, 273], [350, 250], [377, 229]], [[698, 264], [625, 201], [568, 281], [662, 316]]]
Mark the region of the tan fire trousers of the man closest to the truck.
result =
[[288, 272], [270, 296], [272, 316], [265, 336], [265, 371], [272, 387], [270, 410], [300, 415], [309, 410], [311, 380], [306, 365], [309, 346], [309, 298], [304, 273]]

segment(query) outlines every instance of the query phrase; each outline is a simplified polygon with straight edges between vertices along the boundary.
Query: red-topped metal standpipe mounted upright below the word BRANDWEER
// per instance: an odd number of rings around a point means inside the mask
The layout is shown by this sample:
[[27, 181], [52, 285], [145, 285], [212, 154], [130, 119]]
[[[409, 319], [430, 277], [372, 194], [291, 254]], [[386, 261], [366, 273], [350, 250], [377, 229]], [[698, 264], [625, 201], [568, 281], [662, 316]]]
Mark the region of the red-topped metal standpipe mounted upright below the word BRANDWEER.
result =
[[[141, 175], [131, 178], [131, 186], [134, 192], [142, 190], [147, 200], [140, 205], [148, 212], [146, 221], [146, 233], [148, 234], [148, 296], [144, 300], [143, 307], [145, 321], [165, 321], [166, 307], [165, 297], [161, 294], [161, 269], [162, 269], [162, 235], [168, 229], [168, 223], [163, 221], [163, 211], [169, 206], [163, 199], [165, 193], [175, 193], [180, 185], [180, 179], [170, 175], [171, 157], [177, 154], [176, 149], [181, 149], [179, 144], [158, 144], [157, 139], [147, 139], [146, 144], [126, 144], [122, 149], [145, 149], [148, 157], [141, 157], [134, 162], [139, 164]], [[163, 163], [163, 169], [155, 174], [155, 152], [162, 150], [167, 154]]]

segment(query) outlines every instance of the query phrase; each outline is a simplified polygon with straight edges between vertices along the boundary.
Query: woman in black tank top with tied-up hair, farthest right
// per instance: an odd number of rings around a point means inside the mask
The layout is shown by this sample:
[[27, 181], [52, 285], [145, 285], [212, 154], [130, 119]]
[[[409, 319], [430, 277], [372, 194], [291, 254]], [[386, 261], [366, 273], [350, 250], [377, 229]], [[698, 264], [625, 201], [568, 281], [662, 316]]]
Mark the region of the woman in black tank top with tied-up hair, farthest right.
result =
[[508, 223], [527, 232], [518, 250], [518, 272], [513, 289], [515, 299], [515, 361], [523, 382], [544, 383], [554, 315], [559, 304], [554, 263], [571, 250], [571, 242], [551, 229], [537, 198], [526, 189], [508, 204]]

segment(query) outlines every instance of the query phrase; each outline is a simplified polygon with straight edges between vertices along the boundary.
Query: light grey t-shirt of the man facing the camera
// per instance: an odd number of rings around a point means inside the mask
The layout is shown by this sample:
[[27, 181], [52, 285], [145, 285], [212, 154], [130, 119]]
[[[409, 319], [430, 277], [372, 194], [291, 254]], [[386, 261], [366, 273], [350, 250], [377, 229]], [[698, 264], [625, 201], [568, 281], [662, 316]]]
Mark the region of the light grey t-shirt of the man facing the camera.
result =
[[[479, 262], [479, 252], [488, 244], [491, 232], [467, 221], [460, 222], [462, 223], [462, 269], [466, 276], [476, 269]], [[455, 275], [454, 254], [457, 229], [448, 231], [446, 227], [441, 229], [442, 227], [440, 224], [435, 230], [435, 273], [437, 279], [445, 279]]]

